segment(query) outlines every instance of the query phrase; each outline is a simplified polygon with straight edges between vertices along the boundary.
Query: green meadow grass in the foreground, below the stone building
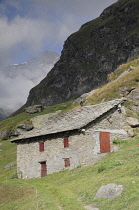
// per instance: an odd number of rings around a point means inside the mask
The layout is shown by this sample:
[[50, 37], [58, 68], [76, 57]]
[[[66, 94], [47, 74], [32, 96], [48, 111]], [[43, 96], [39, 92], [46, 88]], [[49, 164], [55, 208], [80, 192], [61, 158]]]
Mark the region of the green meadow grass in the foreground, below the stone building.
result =
[[[99, 210], [137, 210], [139, 207], [139, 137], [122, 142], [117, 152], [106, 155], [94, 165], [38, 179], [17, 179], [16, 145], [1, 141], [0, 209], [82, 210], [85, 205]], [[113, 200], [94, 199], [100, 186], [122, 184], [124, 190]]]

